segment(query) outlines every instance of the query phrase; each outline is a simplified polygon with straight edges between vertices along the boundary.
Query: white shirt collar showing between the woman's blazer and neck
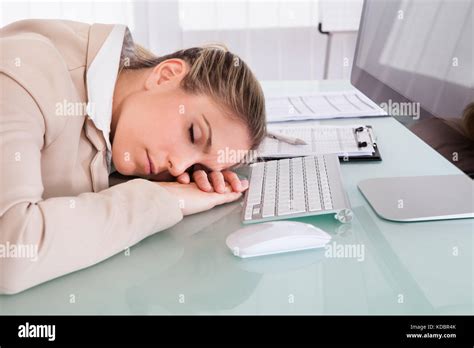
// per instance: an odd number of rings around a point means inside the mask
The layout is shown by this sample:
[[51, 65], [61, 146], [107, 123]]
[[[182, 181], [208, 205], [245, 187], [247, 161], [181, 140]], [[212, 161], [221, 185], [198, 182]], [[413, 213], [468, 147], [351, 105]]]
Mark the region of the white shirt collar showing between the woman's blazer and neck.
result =
[[97, 52], [86, 74], [87, 98], [89, 100], [87, 114], [104, 135], [107, 144], [106, 158], [109, 174], [116, 171], [112, 163], [110, 126], [112, 123], [112, 100], [124, 48], [124, 36], [126, 36], [126, 42], [133, 42], [130, 31], [125, 25], [115, 25]]

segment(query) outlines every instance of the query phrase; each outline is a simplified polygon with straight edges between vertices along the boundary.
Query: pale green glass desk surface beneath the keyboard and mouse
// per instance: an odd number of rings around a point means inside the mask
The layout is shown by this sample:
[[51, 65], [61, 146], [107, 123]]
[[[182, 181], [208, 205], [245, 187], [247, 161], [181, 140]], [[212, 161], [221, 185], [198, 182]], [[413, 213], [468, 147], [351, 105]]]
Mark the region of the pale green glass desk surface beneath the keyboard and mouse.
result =
[[[268, 95], [351, 88], [346, 81], [263, 85]], [[366, 178], [461, 172], [392, 118], [321, 121], [357, 122], [373, 125], [383, 161], [341, 164], [353, 222], [342, 225], [332, 216], [297, 219], [330, 233], [336, 250], [348, 251], [346, 257], [327, 257], [323, 249], [234, 257], [225, 239], [241, 227], [241, 202], [236, 202], [188, 216], [129, 253], [0, 296], [0, 313], [474, 313], [473, 220], [386, 221], [357, 189]], [[348, 257], [350, 250], [363, 254]]]

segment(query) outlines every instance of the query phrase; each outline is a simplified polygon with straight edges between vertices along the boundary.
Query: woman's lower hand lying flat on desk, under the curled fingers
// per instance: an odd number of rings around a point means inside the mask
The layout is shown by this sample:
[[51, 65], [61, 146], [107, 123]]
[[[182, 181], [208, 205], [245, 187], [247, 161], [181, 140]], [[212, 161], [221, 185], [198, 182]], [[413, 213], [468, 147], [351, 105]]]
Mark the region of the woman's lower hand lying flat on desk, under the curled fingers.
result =
[[222, 193], [204, 192], [195, 183], [156, 182], [178, 198], [183, 215], [191, 215], [214, 208], [216, 205], [230, 203], [242, 196], [233, 192], [229, 184], [224, 185]]

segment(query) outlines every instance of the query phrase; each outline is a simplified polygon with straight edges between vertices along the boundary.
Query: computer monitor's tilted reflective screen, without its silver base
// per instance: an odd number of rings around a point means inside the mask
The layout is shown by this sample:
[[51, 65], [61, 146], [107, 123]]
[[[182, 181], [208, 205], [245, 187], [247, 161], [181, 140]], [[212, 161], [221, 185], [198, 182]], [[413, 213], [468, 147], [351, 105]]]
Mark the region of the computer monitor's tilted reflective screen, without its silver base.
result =
[[366, 0], [351, 74], [357, 89], [470, 176], [474, 139], [462, 118], [474, 102], [473, 12], [472, 0]]

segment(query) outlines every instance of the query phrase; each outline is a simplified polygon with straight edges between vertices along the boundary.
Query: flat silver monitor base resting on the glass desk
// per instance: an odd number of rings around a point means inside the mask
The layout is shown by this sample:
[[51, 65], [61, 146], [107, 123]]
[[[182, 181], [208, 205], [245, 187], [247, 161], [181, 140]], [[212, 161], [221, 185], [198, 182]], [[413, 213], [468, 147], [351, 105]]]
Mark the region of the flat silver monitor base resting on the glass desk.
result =
[[375, 212], [392, 221], [474, 218], [474, 181], [467, 175], [373, 178], [359, 190]]

